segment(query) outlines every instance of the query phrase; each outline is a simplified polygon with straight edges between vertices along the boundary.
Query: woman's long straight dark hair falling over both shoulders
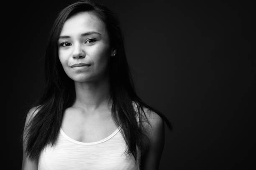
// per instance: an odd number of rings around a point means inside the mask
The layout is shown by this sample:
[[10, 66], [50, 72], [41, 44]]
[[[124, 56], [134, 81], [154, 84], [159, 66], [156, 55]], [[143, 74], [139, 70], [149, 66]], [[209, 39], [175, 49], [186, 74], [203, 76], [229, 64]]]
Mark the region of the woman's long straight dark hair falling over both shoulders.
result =
[[[33, 160], [39, 157], [41, 150], [47, 144], [51, 143], [53, 146], [56, 143], [64, 110], [74, 104], [76, 98], [74, 81], [66, 75], [59, 61], [57, 41], [65, 21], [72, 15], [85, 11], [95, 14], [105, 23], [110, 45], [116, 49], [116, 55], [110, 57], [111, 115], [116, 125], [121, 127], [121, 133], [127, 144], [125, 153], [132, 154], [137, 162], [139, 157], [137, 149], [142, 154], [147, 149], [145, 141], [148, 138], [143, 133], [142, 121], [148, 122], [148, 120], [143, 120], [141, 117], [143, 114], [146, 117], [145, 111], [156, 112], [171, 130], [172, 126], [161, 112], [144, 103], [136, 94], [118, 18], [107, 7], [90, 0], [82, 0], [67, 6], [54, 22], [45, 52], [46, 86], [41, 97], [28, 108], [28, 110], [36, 108], [34, 111], [37, 113], [23, 131], [26, 153], [28, 158]], [[139, 125], [136, 113], [139, 115]]]

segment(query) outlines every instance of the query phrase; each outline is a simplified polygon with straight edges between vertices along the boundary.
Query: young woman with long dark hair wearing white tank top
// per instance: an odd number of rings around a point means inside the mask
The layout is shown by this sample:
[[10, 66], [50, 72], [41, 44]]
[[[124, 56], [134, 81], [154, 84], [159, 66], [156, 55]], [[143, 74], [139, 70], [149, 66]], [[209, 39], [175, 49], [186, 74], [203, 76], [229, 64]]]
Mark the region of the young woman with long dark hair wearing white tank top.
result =
[[157, 170], [164, 121], [133, 88], [117, 18], [88, 0], [64, 8], [28, 111], [23, 170]]

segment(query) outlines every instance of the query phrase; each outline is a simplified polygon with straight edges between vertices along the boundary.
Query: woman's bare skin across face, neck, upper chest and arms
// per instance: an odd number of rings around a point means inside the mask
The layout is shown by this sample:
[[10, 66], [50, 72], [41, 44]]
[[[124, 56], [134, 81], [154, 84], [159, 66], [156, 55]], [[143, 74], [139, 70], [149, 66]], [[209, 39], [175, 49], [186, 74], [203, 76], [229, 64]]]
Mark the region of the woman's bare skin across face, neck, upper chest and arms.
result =
[[[93, 13], [78, 13], [64, 23], [58, 46], [61, 65], [74, 80], [76, 91], [74, 105], [65, 110], [61, 128], [80, 142], [102, 140], [118, 128], [111, 117], [108, 72], [109, 59], [116, 51], [110, 47], [105, 24]], [[71, 67], [81, 62], [87, 66]], [[164, 122], [154, 112], [146, 115], [151, 126], [145, 125], [149, 143], [141, 156], [141, 170], [157, 170], [164, 147]], [[38, 160], [28, 161], [23, 152], [24, 170], [36, 170], [37, 165]]]

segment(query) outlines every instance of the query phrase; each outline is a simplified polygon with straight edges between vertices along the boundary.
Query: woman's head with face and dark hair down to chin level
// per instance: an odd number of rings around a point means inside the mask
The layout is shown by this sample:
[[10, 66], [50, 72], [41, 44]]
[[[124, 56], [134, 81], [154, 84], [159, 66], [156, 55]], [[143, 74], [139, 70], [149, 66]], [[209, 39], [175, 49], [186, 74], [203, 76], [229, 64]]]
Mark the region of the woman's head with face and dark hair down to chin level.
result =
[[[77, 63], [87, 66], [71, 67]], [[90, 0], [64, 8], [51, 31], [45, 67], [46, 81], [61, 92], [74, 80], [96, 80], [108, 73], [112, 90], [127, 85], [130, 73], [116, 16]]]

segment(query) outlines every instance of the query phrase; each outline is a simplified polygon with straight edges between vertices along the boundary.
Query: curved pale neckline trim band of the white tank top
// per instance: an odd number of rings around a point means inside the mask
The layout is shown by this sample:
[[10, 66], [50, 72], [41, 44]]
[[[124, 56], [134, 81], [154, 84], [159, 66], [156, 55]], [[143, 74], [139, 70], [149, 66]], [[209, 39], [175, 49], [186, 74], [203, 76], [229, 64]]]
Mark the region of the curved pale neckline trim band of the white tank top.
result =
[[77, 140], [74, 140], [74, 139], [70, 138], [66, 133], [64, 133], [62, 128], [60, 128], [60, 133], [61, 133], [61, 135], [64, 136], [64, 138], [66, 138], [67, 140], [69, 140], [72, 143], [76, 143], [76, 144], [79, 144], [79, 145], [95, 145], [95, 144], [103, 143], [103, 142], [109, 140], [110, 138], [112, 138], [113, 136], [115, 136], [118, 133], [118, 131], [120, 130], [120, 128], [121, 127], [118, 126], [118, 128], [113, 133], [111, 133], [108, 137], [106, 137], [102, 140], [98, 140], [96, 142], [86, 142], [86, 143], [85, 142], [80, 142], [80, 141], [77, 141]]

